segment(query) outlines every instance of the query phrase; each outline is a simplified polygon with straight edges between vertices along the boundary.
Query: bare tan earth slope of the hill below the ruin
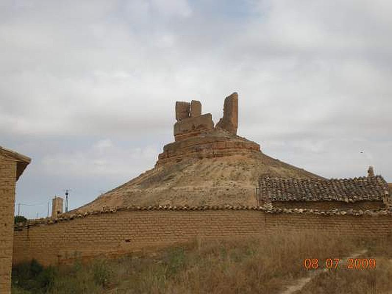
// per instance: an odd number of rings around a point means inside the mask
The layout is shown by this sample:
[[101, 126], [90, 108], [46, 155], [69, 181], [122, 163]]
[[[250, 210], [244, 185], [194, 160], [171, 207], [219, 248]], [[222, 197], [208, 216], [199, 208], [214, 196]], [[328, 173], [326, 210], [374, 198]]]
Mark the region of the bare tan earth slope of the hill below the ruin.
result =
[[257, 152], [191, 159], [151, 169], [78, 210], [123, 205], [256, 205], [260, 175], [319, 177]]

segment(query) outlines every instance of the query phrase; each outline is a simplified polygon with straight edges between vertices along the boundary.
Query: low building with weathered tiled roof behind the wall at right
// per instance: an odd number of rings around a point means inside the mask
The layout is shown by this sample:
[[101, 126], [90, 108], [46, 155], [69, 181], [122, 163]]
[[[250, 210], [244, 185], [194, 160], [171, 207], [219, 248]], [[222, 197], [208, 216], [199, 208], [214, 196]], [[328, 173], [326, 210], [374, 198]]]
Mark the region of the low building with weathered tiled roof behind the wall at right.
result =
[[350, 179], [262, 177], [259, 204], [281, 208], [381, 209], [389, 202], [389, 187], [380, 175]]

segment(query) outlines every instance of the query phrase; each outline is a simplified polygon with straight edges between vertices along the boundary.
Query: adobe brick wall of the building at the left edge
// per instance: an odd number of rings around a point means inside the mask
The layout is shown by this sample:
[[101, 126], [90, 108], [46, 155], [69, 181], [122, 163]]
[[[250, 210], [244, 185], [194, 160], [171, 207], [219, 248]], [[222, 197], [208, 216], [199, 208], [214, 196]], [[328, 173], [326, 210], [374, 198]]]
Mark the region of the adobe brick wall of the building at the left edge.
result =
[[17, 163], [0, 152], [0, 293], [10, 293]]

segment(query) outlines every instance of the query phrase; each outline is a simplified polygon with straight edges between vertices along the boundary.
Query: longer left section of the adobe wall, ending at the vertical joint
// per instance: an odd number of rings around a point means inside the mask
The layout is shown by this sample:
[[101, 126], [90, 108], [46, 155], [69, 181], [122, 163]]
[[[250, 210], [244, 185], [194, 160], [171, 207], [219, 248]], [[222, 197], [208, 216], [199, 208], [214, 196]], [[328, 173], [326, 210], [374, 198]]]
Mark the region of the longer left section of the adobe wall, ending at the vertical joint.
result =
[[262, 234], [264, 215], [253, 211], [117, 211], [15, 231], [14, 263], [44, 265], [74, 256], [117, 255], [203, 239]]

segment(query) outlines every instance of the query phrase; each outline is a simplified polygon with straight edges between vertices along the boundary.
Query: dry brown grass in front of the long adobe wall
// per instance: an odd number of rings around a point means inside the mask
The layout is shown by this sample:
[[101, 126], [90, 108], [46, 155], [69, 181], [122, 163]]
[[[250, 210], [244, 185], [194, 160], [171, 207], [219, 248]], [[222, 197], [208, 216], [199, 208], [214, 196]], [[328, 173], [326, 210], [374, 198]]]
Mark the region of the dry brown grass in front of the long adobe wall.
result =
[[[388, 245], [386, 242], [365, 244], [344, 236], [308, 232], [277, 233], [264, 239], [241, 241], [197, 240], [154, 254], [128, 255], [116, 260], [96, 260], [87, 265], [75, 263], [72, 267], [61, 267], [47, 293], [273, 294], [308, 274], [302, 265], [304, 258], [342, 258], [358, 249], [369, 247], [370, 250], [377, 250], [377, 254], [387, 254]], [[385, 258], [388, 258], [387, 255]], [[335, 277], [333, 273], [320, 275], [315, 283], [311, 283], [316, 284], [316, 288], [308, 287], [303, 293], [357, 293], [343, 286], [318, 292], [321, 291], [319, 289], [325, 289], [324, 281], [337, 283], [333, 279], [342, 279], [342, 283], [344, 279], [349, 280], [352, 282], [351, 288], [356, 286], [354, 284], [358, 283], [358, 279], [368, 287], [372, 287], [375, 281], [379, 287], [377, 289], [382, 291], [388, 285], [391, 286], [391, 267], [381, 266], [381, 261], [373, 273], [340, 271], [339, 274]]]

